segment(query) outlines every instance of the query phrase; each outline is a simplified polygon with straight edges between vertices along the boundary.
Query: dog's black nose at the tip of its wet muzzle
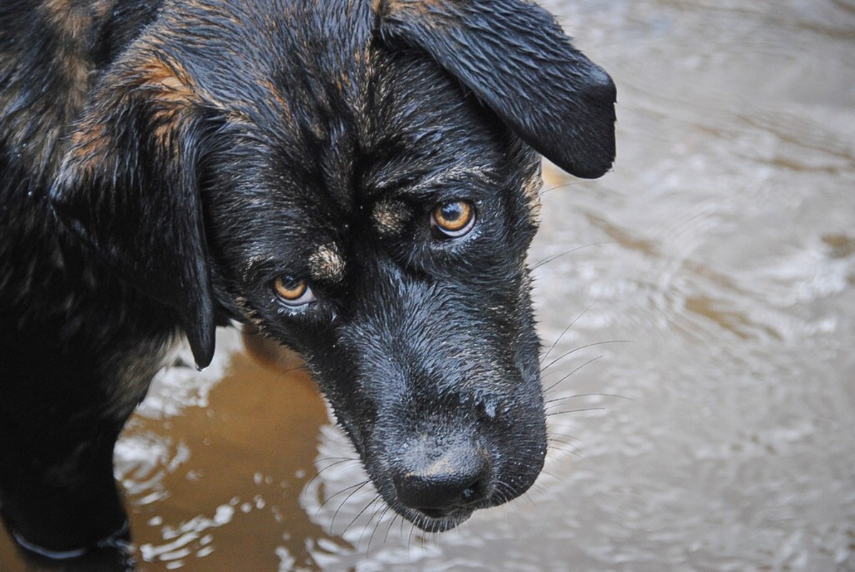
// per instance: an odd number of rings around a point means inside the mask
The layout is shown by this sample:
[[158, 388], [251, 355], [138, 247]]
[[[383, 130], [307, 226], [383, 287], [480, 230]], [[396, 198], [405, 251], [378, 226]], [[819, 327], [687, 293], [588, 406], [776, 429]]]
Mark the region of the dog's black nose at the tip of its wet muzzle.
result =
[[408, 457], [410, 466], [392, 481], [398, 500], [411, 509], [439, 518], [486, 498], [490, 461], [480, 449], [460, 446], [439, 456]]

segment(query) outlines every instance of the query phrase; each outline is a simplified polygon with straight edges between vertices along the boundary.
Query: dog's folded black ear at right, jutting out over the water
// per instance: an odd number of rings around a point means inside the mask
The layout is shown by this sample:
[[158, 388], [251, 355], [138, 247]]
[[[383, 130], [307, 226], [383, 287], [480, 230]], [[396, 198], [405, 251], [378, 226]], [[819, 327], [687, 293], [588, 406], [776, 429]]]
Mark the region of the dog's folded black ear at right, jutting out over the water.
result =
[[578, 177], [615, 159], [615, 85], [525, 0], [379, 0], [380, 33], [425, 50], [523, 141]]

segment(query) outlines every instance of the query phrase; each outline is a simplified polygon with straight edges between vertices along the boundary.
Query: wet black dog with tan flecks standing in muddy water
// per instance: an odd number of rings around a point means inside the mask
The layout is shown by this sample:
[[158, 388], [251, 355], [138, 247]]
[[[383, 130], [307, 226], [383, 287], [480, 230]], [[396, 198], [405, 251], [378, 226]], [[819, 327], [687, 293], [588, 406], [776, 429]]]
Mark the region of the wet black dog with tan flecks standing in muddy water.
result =
[[3, 0], [16, 538], [68, 556], [121, 530], [123, 423], [176, 340], [203, 368], [231, 321], [304, 357], [419, 527], [522, 494], [546, 450], [535, 151], [604, 174], [614, 101], [522, 0]]

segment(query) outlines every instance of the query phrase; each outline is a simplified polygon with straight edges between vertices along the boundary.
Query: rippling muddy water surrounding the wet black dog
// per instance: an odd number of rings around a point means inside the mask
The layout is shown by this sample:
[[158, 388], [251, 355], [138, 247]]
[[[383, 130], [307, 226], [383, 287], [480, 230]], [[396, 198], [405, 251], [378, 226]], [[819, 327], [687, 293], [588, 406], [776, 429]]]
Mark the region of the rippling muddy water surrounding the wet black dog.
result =
[[308, 380], [223, 352], [117, 448], [139, 569], [855, 569], [855, 1], [548, 6], [616, 80], [619, 155], [546, 173], [546, 362], [580, 348], [547, 474], [425, 538], [348, 488]]

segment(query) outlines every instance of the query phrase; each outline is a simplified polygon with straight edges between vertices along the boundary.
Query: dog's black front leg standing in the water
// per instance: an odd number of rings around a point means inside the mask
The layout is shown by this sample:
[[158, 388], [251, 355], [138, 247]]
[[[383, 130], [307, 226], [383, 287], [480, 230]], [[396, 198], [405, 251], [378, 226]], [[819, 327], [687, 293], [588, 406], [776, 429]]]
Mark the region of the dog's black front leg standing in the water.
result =
[[[103, 351], [57, 339], [59, 330], [44, 323], [2, 329], [0, 510], [9, 528], [22, 546], [48, 557], [115, 540], [127, 516], [113, 448], [154, 361], [141, 361], [141, 347], [133, 356], [111, 350], [105, 359]], [[105, 377], [119, 368], [117, 386]]]

